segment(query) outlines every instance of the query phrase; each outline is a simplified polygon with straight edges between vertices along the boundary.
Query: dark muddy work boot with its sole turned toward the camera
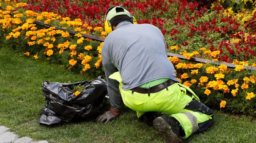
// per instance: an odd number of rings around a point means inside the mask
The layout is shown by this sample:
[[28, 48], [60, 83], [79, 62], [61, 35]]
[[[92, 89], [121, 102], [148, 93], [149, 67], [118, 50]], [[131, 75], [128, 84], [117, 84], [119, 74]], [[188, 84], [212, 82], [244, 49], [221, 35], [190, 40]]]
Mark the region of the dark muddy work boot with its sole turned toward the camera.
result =
[[168, 143], [183, 143], [179, 136], [180, 127], [177, 120], [168, 115], [157, 117], [153, 121], [154, 128], [165, 134], [165, 140]]

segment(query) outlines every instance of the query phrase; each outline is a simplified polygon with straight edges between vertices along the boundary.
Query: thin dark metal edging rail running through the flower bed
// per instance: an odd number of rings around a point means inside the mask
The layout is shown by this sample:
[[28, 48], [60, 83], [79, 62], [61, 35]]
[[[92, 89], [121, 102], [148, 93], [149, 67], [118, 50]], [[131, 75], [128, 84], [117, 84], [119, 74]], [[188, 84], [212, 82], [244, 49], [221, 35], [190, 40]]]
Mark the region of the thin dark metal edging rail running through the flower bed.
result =
[[[2, 7], [0, 7], [1, 10], [6, 10]], [[67, 31], [68, 33], [70, 34], [77, 34], [77, 33], [80, 33], [80, 32], [75, 32], [75, 31], [72, 31], [72, 30], [68, 30], [68, 29], [64, 29], [64, 28], [61, 28], [61, 27], [57, 27], [57, 26], [52, 26], [52, 25], [49, 25], [49, 24], [45, 24], [43, 22], [39, 22], [37, 20], [34, 21], [35, 24], [38, 24], [38, 25], [41, 25], [41, 26], [44, 26], [44, 27], [55, 27], [55, 29], [57, 30], [62, 30], [62, 31]], [[100, 41], [100, 42], [104, 42], [104, 38], [99, 38], [99, 37], [96, 37], [96, 36], [93, 36], [93, 35], [89, 35], [89, 34], [83, 34], [83, 33], [80, 33], [82, 35], [82, 37], [85, 37], [85, 38], [90, 38], [90, 39], [93, 39], [93, 40], [96, 40], [96, 41]], [[216, 64], [216, 65], [226, 65], [227, 67], [229, 68], [236, 68], [235, 67], [235, 64], [233, 63], [227, 63], [227, 62], [220, 62], [220, 61], [213, 61], [213, 60], [206, 60], [206, 59], [201, 59], [201, 58], [195, 58], [195, 57], [190, 57], [190, 59], [187, 59], [186, 57], [184, 57], [183, 55], [179, 55], [179, 54], [174, 54], [174, 53], [170, 53], [170, 52], [167, 52], [167, 56], [171, 56], [171, 57], [178, 57], [180, 59], [184, 59], [184, 60], [189, 60], [189, 61], [194, 61], [194, 62], [201, 62], [201, 63], [213, 63], [213, 64]], [[249, 67], [249, 66], [244, 66], [244, 68], [246, 70], [252, 70], [252, 71], [256, 71], [256, 67]]]

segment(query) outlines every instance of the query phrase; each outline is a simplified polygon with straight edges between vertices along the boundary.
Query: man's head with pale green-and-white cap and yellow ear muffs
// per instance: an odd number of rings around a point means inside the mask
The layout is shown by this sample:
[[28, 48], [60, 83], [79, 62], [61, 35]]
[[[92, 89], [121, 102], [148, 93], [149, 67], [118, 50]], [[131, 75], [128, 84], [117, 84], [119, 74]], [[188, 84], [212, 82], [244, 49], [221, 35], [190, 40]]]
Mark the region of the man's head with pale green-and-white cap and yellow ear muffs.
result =
[[121, 6], [113, 6], [109, 8], [105, 14], [105, 31], [109, 34], [114, 30], [120, 22], [129, 21], [137, 24], [135, 18], [131, 16], [130, 12]]

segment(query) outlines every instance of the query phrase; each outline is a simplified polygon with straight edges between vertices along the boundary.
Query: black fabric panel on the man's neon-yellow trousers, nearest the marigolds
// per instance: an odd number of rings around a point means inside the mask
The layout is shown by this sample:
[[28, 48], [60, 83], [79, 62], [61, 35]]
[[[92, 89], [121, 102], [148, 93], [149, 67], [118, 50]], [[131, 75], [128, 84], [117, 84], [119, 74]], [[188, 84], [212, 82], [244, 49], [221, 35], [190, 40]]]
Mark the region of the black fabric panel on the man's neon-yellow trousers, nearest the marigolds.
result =
[[206, 115], [213, 115], [214, 112], [210, 108], [208, 108], [205, 104], [201, 103], [198, 100], [192, 100], [191, 102], [187, 103], [184, 109], [199, 112]]

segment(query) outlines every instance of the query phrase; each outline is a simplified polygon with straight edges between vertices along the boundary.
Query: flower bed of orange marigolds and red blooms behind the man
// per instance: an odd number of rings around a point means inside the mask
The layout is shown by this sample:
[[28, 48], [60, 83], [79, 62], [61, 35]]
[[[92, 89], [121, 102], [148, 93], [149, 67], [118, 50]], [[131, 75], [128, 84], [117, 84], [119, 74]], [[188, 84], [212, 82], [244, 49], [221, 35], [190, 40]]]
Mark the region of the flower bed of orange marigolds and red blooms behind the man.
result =
[[[41, 5], [43, 3], [45, 5]], [[196, 91], [211, 108], [256, 113], [256, 72], [244, 70], [242, 66], [256, 67], [255, 35], [247, 33], [241, 22], [234, 19], [231, 9], [225, 10], [216, 3], [212, 9], [207, 9], [198, 8], [197, 2], [186, 0], [66, 0], [63, 3], [5, 0], [1, 1], [1, 6], [7, 11], [0, 11], [0, 25], [4, 31], [0, 34], [5, 38], [2, 39], [4, 44], [19, 49], [26, 56], [60, 63], [81, 74], [104, 75], [101, 65], [103, 43], [86, 39], [79, 33], [72, 35], [57, 30], [54, 26], [105, 38], [103, 16], [110, 5], [125, 6], [140, 24], [158, 26], [165, 35], [168, 52], [182, 54], [187, 59], [193, 56], [237, 64], [235, 69], [229, 69], [225, 65], [169, 57], [180, 82]], [[39, 26], [34, 20], [54, 26]]]

